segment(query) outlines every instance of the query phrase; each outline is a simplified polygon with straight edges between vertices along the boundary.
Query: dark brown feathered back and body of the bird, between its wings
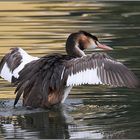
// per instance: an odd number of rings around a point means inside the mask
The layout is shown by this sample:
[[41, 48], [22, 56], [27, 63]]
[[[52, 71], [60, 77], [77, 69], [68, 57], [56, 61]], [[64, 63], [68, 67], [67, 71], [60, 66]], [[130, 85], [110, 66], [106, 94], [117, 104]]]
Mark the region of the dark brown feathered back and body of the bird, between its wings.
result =
[[63, 55], [50, 55], [27, 64], [19, 73], [16, 82], [16, 99], [14, 105], [23, 94], [24, 106], [49, 107], [62, 99], [64, 83], [61, 74], [64, 60], [70, 58]]

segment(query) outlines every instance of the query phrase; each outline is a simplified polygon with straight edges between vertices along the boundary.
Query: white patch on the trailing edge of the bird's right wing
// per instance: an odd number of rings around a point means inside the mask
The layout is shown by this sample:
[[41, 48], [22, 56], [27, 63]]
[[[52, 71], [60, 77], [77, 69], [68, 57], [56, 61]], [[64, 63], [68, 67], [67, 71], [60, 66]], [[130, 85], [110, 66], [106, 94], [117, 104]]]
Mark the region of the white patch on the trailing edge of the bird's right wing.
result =
[[68, 76], [67, 86], [77, 86], [82, 84], [102, 84], [97, 75], [97, 68], [86, 69]]

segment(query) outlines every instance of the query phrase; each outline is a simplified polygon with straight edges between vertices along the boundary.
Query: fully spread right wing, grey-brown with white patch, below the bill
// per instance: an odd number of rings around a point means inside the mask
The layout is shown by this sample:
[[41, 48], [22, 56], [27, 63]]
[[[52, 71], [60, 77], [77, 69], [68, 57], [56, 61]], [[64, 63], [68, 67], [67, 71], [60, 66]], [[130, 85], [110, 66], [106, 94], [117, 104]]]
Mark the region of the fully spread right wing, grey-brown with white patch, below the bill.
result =
[[133, 72], [105, 53], [70, 60], [65, 64], [63, 79], [67, 86], [103, 84], [133, 88], [139, 85]]

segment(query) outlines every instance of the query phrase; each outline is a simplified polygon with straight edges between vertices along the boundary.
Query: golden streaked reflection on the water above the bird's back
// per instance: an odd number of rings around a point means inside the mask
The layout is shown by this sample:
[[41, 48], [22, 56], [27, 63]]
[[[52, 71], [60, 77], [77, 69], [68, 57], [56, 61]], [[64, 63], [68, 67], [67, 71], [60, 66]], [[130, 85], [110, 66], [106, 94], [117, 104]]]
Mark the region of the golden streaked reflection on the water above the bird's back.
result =
[[20, 46], [40, 54], [48, 52], [44, 47], [64, 47], [71, 32], [90, 27], [84, 25], [91, 23], [86, 20], [88, 12], [101, 6], [101, 3], [76, 1], [1, 1], [0, 52], [4, 54], [9, 48]]

